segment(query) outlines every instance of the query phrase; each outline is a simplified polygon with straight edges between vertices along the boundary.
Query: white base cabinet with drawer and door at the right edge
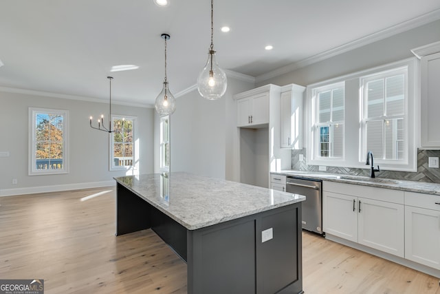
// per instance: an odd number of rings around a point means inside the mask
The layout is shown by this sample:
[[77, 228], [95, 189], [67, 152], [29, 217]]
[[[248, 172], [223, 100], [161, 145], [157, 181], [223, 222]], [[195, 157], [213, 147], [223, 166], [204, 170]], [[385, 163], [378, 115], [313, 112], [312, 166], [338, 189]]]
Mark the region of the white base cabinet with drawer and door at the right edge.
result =
[[440, 270], [440, 196], [405, 192], [405, 258]]

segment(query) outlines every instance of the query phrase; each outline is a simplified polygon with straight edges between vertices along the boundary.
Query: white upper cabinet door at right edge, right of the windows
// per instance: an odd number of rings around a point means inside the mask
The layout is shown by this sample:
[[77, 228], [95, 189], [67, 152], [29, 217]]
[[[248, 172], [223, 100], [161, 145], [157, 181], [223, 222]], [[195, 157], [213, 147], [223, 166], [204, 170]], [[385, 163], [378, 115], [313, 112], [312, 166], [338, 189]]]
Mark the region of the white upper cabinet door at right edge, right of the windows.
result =
[[421, 59], [421, 146], [440, 147], [440, 52]]

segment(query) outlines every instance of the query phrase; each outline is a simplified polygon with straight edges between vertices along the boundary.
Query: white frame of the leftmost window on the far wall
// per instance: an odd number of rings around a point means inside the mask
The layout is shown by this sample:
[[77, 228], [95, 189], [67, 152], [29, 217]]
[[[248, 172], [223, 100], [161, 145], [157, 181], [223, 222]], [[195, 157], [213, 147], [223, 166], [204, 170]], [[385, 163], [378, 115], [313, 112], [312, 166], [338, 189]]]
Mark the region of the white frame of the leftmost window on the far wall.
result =
[[[43, 176], [54, 174], [69, 174], [69, 110], [29, 107], [29, 160], [28, 175]], [[37, 169], [36, 168], [36, 115], [56, 114], [63, 116], [63, 168]]]

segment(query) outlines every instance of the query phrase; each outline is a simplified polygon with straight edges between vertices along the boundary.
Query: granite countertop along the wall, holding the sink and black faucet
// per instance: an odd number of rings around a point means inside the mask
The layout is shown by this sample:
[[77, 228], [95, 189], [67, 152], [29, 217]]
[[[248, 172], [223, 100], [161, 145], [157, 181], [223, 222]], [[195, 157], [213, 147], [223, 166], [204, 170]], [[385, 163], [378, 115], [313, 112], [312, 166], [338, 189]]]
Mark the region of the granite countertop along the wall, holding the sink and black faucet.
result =
[[329, 180], [333, 182], [344, 182], [346, 184], [373, 186], [386, 189], [411, 191], [416, 193], [434, 194], [440, 196], [440, 184], [433, 182], [415, 182], [411, 180], [394, 180], [388, 178], [369, 178], [365, 176], [351, 176], [344, 174], [328, 174], [309, 171], [285, 170], [272, 174], [283, 174], [295, 176], [296, 178], [312, 178], [318, 180]]

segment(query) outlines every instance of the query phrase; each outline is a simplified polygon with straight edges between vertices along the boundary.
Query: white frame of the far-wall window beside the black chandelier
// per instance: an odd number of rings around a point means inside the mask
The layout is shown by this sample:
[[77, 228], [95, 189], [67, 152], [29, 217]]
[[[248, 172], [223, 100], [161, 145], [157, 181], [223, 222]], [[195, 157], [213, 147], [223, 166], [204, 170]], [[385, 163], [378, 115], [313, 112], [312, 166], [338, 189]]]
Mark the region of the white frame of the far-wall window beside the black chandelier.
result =
[[133, 162], [132, 165], [114, 165], [114, 133], [109, 136], [109, 171], [138, 171], [139, 170], [139, 138], [137, 137], [137, 116], [111, 115], [112, 126], [114, 120], [131, 120], [133, 122]]

